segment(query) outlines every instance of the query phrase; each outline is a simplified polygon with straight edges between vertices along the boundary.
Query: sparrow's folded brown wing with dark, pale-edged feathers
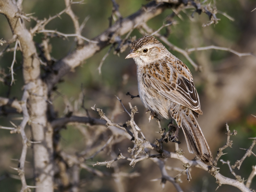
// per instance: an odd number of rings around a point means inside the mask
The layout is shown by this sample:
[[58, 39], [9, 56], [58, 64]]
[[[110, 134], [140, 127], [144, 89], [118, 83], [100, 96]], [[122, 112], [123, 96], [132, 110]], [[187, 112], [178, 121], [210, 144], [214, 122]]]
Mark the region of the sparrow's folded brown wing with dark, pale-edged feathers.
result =
[[172, 68], [173, 66], [166, 63], [155, 62], [146, 68], [142, 75], [143, 81], [146, 86], [155, 89], [163, 97], [203, 114], [192, 75], [187, 66], [180, 62], [178, 60], [176, 63], [176, 69], [175, 66]]

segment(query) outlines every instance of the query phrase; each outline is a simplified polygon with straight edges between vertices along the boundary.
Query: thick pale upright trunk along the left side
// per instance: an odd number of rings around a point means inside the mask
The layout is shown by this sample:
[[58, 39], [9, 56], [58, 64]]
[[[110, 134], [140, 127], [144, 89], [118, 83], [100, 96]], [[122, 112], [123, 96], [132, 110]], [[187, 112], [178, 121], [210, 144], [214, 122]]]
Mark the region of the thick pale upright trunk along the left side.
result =
[[[20, 40], [23, 57], [24, 83], [31, 85], [27, 101], [33, 141], [41, 141], [33, 146], [34, 166], [36, 174], [36, 192], [53, 191], [53, 146], [52, 128], [48, 125], [46, 110], [47, 86], [40, 78], [40, 62], [36, 58], [36, 47], [33, 36], [27, 30], [22, 18], [17, 17], [18, 8], [11, 0], [0, 2], [3, 13], [12, 29], [12, 33]], [[43, 98], [44, 97], [44, 98]]]

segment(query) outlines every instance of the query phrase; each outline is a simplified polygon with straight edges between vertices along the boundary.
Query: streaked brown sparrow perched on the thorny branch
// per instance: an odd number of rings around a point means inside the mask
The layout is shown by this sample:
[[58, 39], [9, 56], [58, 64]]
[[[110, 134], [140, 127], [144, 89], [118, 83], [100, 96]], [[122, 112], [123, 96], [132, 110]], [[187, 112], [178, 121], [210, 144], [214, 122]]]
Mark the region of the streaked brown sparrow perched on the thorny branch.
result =
[[196, 121], [203, 112], [188, 67], [153, 36], [134, 41], [128, 58], [137, 65], [138, 90], [145, 108], [161, 118], [174, 119], [184, 132], [188, 151], [211, 166], [212, 153]]

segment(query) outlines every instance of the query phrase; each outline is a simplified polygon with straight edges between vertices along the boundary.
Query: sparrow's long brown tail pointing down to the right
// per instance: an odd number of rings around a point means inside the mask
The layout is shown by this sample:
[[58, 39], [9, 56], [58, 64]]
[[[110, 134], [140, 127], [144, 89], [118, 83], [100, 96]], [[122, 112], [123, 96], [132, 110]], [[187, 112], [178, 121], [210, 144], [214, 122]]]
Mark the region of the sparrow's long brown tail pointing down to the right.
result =
[[192, 110], [188, 109], [190, 113], [188, 115], [180, 115], [180, 118], [177, 119], [177, 124], [182, 128], [187, 145], [190, 153], [195, 153], [196, 156], [199, 156], [204, 163], [207, 165], [212, 165], [213, 158], [211, 150], [204, 138], [204, 135], [196, 121], [196, 117], [193, 114]]

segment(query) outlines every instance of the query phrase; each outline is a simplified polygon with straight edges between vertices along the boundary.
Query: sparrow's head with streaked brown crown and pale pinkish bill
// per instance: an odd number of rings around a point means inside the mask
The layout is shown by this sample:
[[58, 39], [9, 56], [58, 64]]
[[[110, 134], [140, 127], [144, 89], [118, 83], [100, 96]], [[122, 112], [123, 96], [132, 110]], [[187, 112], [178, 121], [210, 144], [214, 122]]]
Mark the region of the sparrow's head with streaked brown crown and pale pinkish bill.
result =
[[145, 65], [164, 56], [166, 48], [155, 37], [144, 36], [132, 44], [132, 50], [125, 59], [133, 58], [137, 65]]

